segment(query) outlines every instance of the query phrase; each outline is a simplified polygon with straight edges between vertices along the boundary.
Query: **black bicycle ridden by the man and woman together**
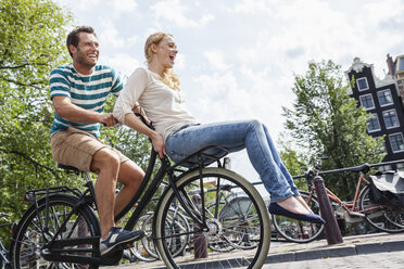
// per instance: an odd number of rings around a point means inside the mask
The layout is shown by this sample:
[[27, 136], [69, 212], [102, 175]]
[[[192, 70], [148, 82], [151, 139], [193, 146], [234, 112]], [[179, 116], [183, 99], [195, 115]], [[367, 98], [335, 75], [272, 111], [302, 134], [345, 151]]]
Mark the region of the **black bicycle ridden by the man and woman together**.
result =
[[[151, 125], [149, 127], [152, 128]], [[212, 155], [212, 150], [217, 154]], [[124, 227], [126, 230], [134, 229], [142, 210], [153, 197], [163, 178], [167, 176], [168, 185], [159, 200], [152, 223], [153, 242], [167, 268], [186, 267], [190, 264], [194, 268], [220, 267], [222, 264], [227, 268], [229, 265], [261, 268], [270, 244], [268, 212], [260, 193], [249, 181], [223, 167], [220, 159], [227, 154], [227, 149], [212, 145], [173, 165], [165, 156], [160, 159], [161, 167], [152, 178], [156, 153], [151, 150], [149, 166], [139, 191], [115, 216], [115, 221], [122, 219], [137, 203]], [[206, 167], [213, 163], [218, 167]], [[179, 169], [180, 166], [190, 168]], [[124, 248], [130, 245], [121, 245], [111, 254], [100, 255], [100, 225], [94, 213], [97, 210], [94, 190], [88, 175], [84, 174], [83, 177], [85, 180], [83, 192], [68, 187], [53, 187], [26, 193], [26, 200], [31, 201], [33, 205], [18, 222], [13, 236], [11, 247], [13, 268], [98, 268], [100, 265], [116, 265], [122, 259]], [[252, 201], [245, 216], [248, 221], [237, 222], [232, 219], [229, 223], [220, 222], [210, 217], [206, 210], [200, 209], [215, 203], [214, 212], [218, 213], [222, 185], [228, 184]], [[205, 192], [206, 185], [214, 185], [215, 191]], [[199, 191], [199, 204], [189, 194], [195, 190]], [[190, 231], [186, 231], [179, 225], [169, 226], [174, 219], [169, 208], [175, 204], [180, 205], [180, 214], [192, 220], [193, 227]], [[199, 247], [198, 243], [194, 243], [201, 238], [209, 241], [214, 236], [220, 236], [227, 230], [236, 232], [238, 229], [258, 231], [258, 240], [254, 242], [253, 251], [238, 247], [233, 243], [238, 252], [237, 257], [231, 257], [230, 261], [228, 258], [220, 259], [223, 258], [220, 253], [211, 251], [206, 252], [206, 258], [194, 257]], [[177, 244], [184, 236], [191, 238], [188, 252], [185, 256], [174, 257], [173, 251], [177, 249]]]

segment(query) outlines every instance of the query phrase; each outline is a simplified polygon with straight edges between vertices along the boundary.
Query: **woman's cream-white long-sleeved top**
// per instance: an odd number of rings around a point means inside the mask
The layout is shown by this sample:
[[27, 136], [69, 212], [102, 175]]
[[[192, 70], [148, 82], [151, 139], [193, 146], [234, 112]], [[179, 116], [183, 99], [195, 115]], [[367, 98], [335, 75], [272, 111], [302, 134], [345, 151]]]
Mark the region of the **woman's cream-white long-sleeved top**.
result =
[[144, 110], [164, 141], [181, 126], [199, 124], [185, 108], [181, 92], [169, 88], [159, 74], [143, 67], [137, 68], [128, 78], [115, 103], [114, 117], [124, 123], [125, 115], [132, 113], [136, 102]]

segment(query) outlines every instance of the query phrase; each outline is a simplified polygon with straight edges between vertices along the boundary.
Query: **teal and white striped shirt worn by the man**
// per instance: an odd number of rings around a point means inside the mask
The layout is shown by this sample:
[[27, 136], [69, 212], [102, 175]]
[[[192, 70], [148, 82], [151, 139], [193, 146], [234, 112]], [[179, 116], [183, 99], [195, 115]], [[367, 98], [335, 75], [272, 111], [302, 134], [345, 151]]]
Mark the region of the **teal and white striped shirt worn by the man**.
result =
[[[50, 97], [63, 95], [81, 108], [103, 112], [108, 95], [118, 95], [123, 89], [121, 78], [109, 66], [96, 65], [91, 75], [81, 75], [73, 64], [54, 68], [50, 74]], [[54, 114], [51, 134], [74, 127], [100, 137], [100, 124], [73, 123]]]

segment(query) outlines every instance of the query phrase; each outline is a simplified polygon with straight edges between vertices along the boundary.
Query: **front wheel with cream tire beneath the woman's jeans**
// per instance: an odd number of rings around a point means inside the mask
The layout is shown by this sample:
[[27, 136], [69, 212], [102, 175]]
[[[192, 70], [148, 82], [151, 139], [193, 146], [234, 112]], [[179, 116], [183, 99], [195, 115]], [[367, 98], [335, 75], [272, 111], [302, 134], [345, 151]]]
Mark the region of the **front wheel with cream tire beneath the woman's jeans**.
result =
[[[262, 267], [269, 249], [270, 222], [262, 196], [249, 181], [224, 168], [204, 168], [201, 178], [194, 170], [182, 175], [176, 185], [185, 206], [205, 226], [199, 227], [184, 205], [178, 212], [188, 219], [190, 232], [187, 233], [180, 222], [173, 225], [176, 217], [169, 208], [180, 203], [172, 188], [165, 191], [156, 209], [154, 228], [159, 254], [168, 268]], [[242, 198], [223, 206], [220, 197], [228, 196], [229, 189], [232, 196]], [[213, 208], [213, 204], [217, 208]], [[210, 208], [202, 210], [202, 205]], [[222, 209], [225, 210], [220, 214]], [[188, 247], [175, 257], [173, 253], [186, 235], [190, 236]], [[223, 252], [219, 245], [225, 247]], [[230, 252], [229, 245], [233, 248]]]

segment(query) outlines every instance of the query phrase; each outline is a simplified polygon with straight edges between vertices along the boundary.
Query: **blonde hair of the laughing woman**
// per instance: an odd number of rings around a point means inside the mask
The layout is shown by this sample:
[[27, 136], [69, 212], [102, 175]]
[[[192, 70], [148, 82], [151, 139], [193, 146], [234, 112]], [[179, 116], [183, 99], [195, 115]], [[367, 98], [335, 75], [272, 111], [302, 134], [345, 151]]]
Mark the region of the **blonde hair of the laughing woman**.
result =
[[[146, 60], [148, 61], [148, 64], [150, 64], [150, 62], [153, 59], [153, 52], [151, 50], [151, 44], [154, 43], [157, 46], [165, 37], [173, 37], [173, 35], [160, 31], [160, 33], [154, 33], [150, 35], [149, 38], [146, 40], [144, 56], [146, 56]], [[177, 75], [175, 74], [175, 72], [173, 71], [173, 68], [165, 69], [162, 80], [169, 88], [178, 90], [178, 91], [180, 90], [179, 79]]]

